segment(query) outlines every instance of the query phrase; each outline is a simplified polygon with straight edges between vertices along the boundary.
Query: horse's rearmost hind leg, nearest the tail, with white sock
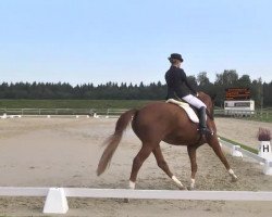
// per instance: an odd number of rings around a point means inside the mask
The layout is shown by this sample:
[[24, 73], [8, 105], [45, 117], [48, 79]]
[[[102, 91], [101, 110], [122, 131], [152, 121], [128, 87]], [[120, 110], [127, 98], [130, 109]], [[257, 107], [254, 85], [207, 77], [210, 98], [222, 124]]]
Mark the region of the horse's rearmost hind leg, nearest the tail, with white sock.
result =
[[135, 182], [137, 179], [138, 171], [143, 165], [143, 163], [146, 161], [146, 158], [150, 155], [152, 150], [156, 145], [152, 143], [143, 143], [143, 146], [138, 154], [133, 159], [133, 167], [132, 167], [132, 174], [129, 178], [129, 188], [135, 189]]

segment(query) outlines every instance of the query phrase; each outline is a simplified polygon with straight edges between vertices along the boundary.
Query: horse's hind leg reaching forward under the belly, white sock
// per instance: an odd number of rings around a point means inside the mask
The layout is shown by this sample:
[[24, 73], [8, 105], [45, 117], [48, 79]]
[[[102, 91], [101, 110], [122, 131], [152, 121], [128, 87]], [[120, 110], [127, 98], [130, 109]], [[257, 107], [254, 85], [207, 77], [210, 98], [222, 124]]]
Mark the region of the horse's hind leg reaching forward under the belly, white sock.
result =
[[182, 182], [175, 176], [173, 176], [173, 174], [170, 171], [168, 163], [165, 162], [162, 155], [160, 145], [153, 150], [153, 155], [156, 157], [158, 166], [176, 183], [176, 186], [181, 190], [184, 190], [185, 187], [182, 184]]

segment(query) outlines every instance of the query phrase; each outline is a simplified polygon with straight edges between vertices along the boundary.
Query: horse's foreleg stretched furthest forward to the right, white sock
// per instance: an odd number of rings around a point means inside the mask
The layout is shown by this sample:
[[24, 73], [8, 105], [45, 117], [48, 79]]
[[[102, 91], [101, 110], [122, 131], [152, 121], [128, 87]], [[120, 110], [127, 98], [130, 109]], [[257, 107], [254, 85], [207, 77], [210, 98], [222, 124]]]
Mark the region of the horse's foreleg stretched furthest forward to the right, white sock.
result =
[[225, 155], [223, 154], [221, 146], [218, 141], [218, 137], [213, 136], [211, 139], [208, 141], [209, 145], [213, 149], [220, 161], [224, 164], [226, 170], [232, 177], [232, 181], [237, 181], [237, 176], [234, 174], [233, 169], [231, 168], [230, 164], [227, 163]]

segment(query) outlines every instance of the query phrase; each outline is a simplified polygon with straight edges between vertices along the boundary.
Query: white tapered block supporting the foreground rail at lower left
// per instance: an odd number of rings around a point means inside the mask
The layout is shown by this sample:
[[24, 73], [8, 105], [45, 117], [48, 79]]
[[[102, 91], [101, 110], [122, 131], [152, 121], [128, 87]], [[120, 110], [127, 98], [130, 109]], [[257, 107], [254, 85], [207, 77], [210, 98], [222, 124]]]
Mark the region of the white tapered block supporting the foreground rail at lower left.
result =
[[63, 188], [50, 188], [47, 194], [44, 214], [65, 214], [69, 210]]

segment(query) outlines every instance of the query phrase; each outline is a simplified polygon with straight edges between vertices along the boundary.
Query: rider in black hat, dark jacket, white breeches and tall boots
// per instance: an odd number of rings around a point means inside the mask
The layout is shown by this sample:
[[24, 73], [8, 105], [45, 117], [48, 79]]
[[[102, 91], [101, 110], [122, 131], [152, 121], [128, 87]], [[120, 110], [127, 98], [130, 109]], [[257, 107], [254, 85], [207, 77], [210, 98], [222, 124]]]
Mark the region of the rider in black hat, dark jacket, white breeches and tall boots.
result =
[[[199, 131], [201, 135], [210, 133], [206, 125], [206, 104], [199, 100], [198, 92], [189, 85], [186, 74], [181, 68], [183, 58], [178, 53], [172, 53], [169, 58], [171, 63], [170, 69], [165, 74], [168, 85], [166, 99], [183, 100], [195, 106], [199, 112]], [[196, 95], [190, 94], [189, 90]]]

